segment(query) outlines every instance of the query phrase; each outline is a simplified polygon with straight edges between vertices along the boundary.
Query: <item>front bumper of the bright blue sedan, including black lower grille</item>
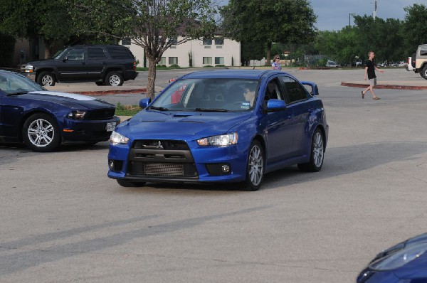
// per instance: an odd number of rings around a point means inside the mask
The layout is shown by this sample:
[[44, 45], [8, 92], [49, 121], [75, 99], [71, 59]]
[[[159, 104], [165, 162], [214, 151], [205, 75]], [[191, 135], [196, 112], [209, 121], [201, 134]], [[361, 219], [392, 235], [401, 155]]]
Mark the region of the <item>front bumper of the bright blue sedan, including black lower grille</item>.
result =
[[[198, 146], [189, 151], [135, 151], [128, 145], [110, 145], [110, 178], [153, 182], [238, 182], [246, 178], [248, 144]], [[180, 157], [181, 156], [181, 157]]]

